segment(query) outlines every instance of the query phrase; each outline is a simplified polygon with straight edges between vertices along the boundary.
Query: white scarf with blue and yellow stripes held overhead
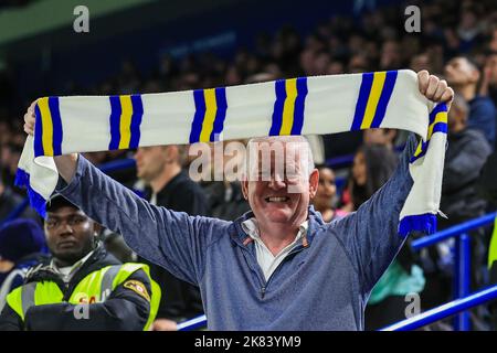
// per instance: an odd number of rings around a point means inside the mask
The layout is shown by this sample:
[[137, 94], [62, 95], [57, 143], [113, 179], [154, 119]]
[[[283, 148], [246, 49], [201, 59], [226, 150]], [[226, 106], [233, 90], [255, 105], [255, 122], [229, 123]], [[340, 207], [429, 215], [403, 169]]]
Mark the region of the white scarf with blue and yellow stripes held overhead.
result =
[[412, 71], [300, 77], [260, 84], [121, 96], [44, 97], [35, 105], [17, 182], [42, 215], [59, 174], [53, 156], [261, 136], [403, 129], [422, 141], [399, 232], [435, 231], [447, 114]]

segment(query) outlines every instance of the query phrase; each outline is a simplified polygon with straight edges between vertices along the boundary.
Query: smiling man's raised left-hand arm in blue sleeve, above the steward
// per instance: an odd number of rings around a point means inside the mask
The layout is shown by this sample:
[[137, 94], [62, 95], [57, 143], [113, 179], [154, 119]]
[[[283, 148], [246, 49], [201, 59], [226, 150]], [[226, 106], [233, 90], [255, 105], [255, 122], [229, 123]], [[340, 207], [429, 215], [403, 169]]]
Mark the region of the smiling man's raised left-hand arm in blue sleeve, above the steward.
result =
[[118, 232], [138, 255], [198, 285], [207, 248], [228, 222], [158, 207], [92, 165], [83, 156], [71, 182], [56, 191], [91, 218]]

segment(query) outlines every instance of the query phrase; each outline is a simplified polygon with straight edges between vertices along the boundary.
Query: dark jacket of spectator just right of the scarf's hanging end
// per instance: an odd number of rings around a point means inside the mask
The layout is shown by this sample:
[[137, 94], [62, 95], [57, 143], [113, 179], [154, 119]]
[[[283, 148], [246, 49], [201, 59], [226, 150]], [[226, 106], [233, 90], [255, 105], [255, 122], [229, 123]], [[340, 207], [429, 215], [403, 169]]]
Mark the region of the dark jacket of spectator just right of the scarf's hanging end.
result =
[[486, 202], [477, 193], [476, 181], [490, 152], [490, 146], [477, 130], [448, 135], [441, 200], [441, 210], [448, 216], [447, 226], [484, 213]]

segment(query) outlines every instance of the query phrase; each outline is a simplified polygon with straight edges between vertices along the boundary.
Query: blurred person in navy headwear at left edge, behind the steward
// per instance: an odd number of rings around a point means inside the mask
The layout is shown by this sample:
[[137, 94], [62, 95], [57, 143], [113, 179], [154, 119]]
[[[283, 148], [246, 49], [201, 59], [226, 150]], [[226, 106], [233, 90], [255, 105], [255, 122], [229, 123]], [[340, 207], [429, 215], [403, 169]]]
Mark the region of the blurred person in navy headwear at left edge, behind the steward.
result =
[[0, 312], [7, 295], [23, 284], [28, 268], [45, 256], [45, 235], [36, 222], [19, 218], [0, 228]]

